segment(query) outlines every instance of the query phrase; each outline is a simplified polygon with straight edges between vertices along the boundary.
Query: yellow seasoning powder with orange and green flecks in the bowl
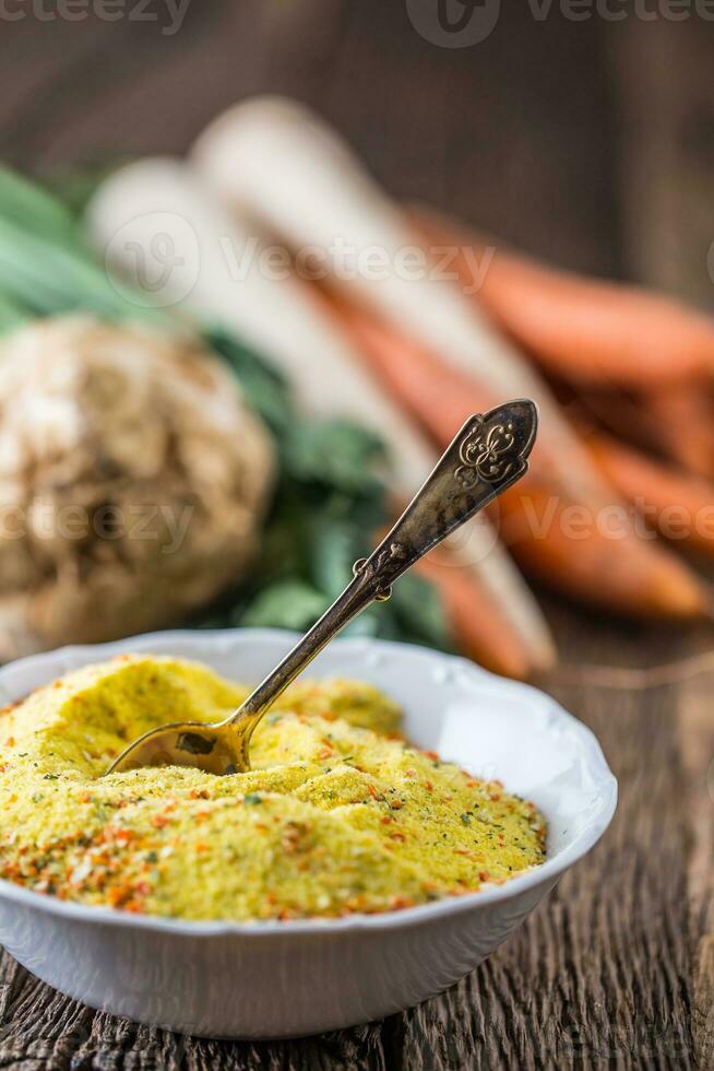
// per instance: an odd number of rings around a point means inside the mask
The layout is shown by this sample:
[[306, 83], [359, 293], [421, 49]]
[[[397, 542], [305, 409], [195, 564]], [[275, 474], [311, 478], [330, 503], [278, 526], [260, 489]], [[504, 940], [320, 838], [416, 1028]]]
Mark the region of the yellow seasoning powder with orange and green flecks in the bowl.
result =
[[258, 920], [393, 910], [543, 862], [533, 803], [408, 746], [396, 705], [356, 681], [293, 685], [249, 773], [102, 776], [140, 733], [216, 720], [247, 694], [198, 663], [122, 656], [5, 708], [0, 876], [129, 911]]

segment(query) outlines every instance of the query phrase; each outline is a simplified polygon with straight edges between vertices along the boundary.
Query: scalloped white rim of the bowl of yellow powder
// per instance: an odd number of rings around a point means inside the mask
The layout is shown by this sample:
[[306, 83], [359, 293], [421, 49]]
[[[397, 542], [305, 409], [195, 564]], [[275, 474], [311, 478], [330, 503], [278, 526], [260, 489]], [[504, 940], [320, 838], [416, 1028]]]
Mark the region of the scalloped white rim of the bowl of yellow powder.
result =
[[[61, 663], [62, 659], [80, 657], [90, 661], [99, 661], [105, 657], [112, 658], [134, 651], [151, 651], [154, 644], [177, 643], [180, 647], [187, 640], [198, 644], [199, 647], [211, 649], [217, 640], [229, 646], [231, 643], [241, 639], [267, 640], [279, 639], [286, 645], [295, 642], [299, 634], [281, 628], [215, 628], [215, 629], [165, 629], [162, 632], [143, 633], [140, 636], [130, 636], [127, 639], [112, 640], [106, 644], [71, 644], [59, 647], [51, 651], [43, 651], [37, 655], [28, 655], [25, 658], [16, 659], [0, 668], [0, 690], [4, 687], [5, 679], [16, 672], [17, 669], [32, 669], [35, 666], [49, 666], [52, 662]], [[445, 896], [442, 899], [430, 904], [421, 904], [416, 907], [407, 907], [401, 910], [383, 911], [374, 915], [354, 914], [347, 918], [311, 918], [293, 919], [286, 921], [248, 921], [235, 922], [229, 920], [188, 920], [164, 918], [156, 915], [135, 915], [130, 911], [122, 911], [117, 908], [100, 907], [95, 905], [75, 904], [69, 901], [61, 901], [55, 896], [35, 893], [24, 888], [13, 882], [0, 879], [0, 898], [12, 901], [15, 904], [56, 915], [71, 918], [74, 921], [85, 921], [103, 926], [130, 927], [132, 929], [146, 929], [162, 932], [172, 932], [176, 934], [200, 938], [200, 937], [221, 937], [223, 934], [240, 934], [242, 938], [260, 939], [267, 937], [285, 938], [290, 935], [330, 934], [355, 930], [382, 930], [401, 928], [404, 926], [415, 926], [428, 922], [431, 919], [440, 918], [445, 915], [456, 915], [462, 911], [472, 911], [479, 907], [487, 907], [502, 901], [508, 901], [527, 888], [544, 884], [549, 879], [559, 878], [566, 870], [582, 859], [591, 848], [599, 840], [607, 829], [617, 807], [617, 780], [610, 770], [603, 750], [595, 734], [582, 721], [569, 714], [559, 703], [547, 693], [529, 684], [519, 681], [511, 681], [505, 678], [497, 676], [488, 670], [475, 664], [468, 659], [457, 655], [448, 655], [442, 651], [432, 650], [427, 647], [418, 647], [413, 644], [403, 644], [388, 639], [366, 639], [366, 638], [345, 638], [336, 639], [330, 645], [331, 648], [348, 647], [367, 650], [394, 650], [400, 652], [408, 650], [415, 652], [420, 659], [441, 662], [455, 667], [472, 675], [474, 680], [484, 686], [490, 684], [495, 691], [503, 694], [510, 692], [515, 696], [537, 697], [539, 702], [546, 702], [556, 721], [566, 723], [571, 733], [579, 739], [582, 745], [583, 755], [588, 761], [592, 772], [597, 775], [598, 789], [602, 796], [600, 803], [593, 814], [587, 825], [580, 831], [573, 840], [560, 849], [551, 858], [538, 867], [527, 870], [522, 874], [510, 878], [503, 885], [484, 887], [473, 893], [464, 893], [462, 896]], [[98, 657], [99, 656], [99, 657]], [[177, 651], [177, 657], [181, 657]], [[192, 656], [195, 658], [195, 655]], [[79, 666], [80, 663], [78, 663]], [[52, 671], [61, 675], [66, 669]], [[0, 697], [1, 702], [1, 697]], [[10, 701], [12, 702], [12, 701]], [[507, 786], [508, 788], [508, 786]], [[547, 815], [546, 815], [547, 817]]]

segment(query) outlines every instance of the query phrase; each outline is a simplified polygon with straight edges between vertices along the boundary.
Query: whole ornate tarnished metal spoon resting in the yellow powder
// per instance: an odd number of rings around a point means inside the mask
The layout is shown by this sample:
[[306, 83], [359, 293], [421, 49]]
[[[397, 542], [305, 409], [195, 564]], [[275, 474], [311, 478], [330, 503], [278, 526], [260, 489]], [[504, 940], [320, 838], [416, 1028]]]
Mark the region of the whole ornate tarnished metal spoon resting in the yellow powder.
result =
[[355, 563], [342, 595], [230, 717], [152, 729], [107, 773], [141, 766], [195, 766], [210, 774], [250, 769], [250, 738], [269, 707], [341, 628], [371, 602], [389, 599], [392, 584], [415, 562], [523, 475], [537, 423], [528, 400], [471, 416], [377, 550]]

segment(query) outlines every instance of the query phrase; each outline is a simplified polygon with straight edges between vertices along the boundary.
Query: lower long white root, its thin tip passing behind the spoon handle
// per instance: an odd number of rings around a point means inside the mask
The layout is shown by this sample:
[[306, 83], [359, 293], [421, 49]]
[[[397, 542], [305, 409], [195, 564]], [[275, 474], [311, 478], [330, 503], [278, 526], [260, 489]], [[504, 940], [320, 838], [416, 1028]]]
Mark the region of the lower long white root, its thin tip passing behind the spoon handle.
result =
[[[390, 447], [395, 493], [410, 497], [436, 463], [431, 444], [364, 369], [311, 289], [286, 261], [279, 263], [252, 224], [223, 210], [187, 166], [155, 158], [122, 168], [98, 189], [87, 224], [116, 268], [142, 264], [158, 276], [157, 251], [178, 264], [177, 272], [163, 272], [154, 297], [164, 304], [185, 299], [235, 330], [287, 375], [306, 412], [352, 417], [378, 432]], [[492, 527], [481, 517], [467, 532], [467, 543], [452, 548], [454, 558], [498, 604], [532, 668], [551, 664], [548, 626]]]

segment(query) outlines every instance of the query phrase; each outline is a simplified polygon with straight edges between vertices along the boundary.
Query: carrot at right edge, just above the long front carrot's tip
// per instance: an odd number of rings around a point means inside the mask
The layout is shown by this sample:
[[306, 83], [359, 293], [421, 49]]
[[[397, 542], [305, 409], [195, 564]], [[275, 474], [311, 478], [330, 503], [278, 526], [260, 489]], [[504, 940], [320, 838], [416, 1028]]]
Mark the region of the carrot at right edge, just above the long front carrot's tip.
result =
[[645, 521], [667, 539], [714, 557], [714, 484], [590, 433], [595, 463]]

